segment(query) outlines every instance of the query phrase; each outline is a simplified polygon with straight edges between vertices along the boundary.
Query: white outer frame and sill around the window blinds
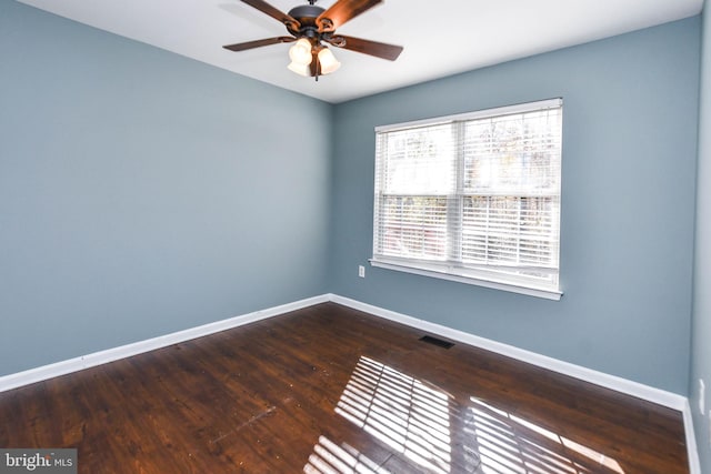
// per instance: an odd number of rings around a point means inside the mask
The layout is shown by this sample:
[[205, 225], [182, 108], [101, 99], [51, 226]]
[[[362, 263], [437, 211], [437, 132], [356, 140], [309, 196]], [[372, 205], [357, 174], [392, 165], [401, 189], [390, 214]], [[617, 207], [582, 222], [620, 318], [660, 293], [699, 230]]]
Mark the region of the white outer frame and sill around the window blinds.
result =
[[[560, 285], [560, 243], [561, 243], [560, 221], [561, 221], [561, 208], [562, 208], [561, 181], [562, 181], [562, 128], [563, 128], [562, 107], [563, 107], [562, 98], [555, 98], [555, 99], [548, 99], [548, 100], [535, 101], [535, 102], [525, 102], [525, 103], [520, 103], [514, 105], [505, 105], [505, 107], [499, 107], [493, 109], [479, 110], [479, 111], [468, 112], [468, 113], [417, 120], [417, 121], [395, 123], [395, 124], [389, 124], [389, 125], [380, 125], [380, 127], [375, 127], [374, 129], [375, 140], [380, 140], [379, 135], [382, 133], [403, 131], [408, 129], [415, 129], [415, 128], [422, 128], [422, 127], [434, 128], [438, 125], [463, 123], [472, 120], [491, 119], [491, 118], [502, 117], [502, 115], [511, 115], [511, 114], [519, 114], [519, 113], [525, 113], [525, 112], [537, 112], [537, 111], [544, 111], [550, 109], [560, 109], [560, 114], [561, 114], [560, 163], [558, 169], [560, 174], [558, 177], [557, 193], [554, 194], [554, 198], [557, 198], [557, 203], [558, 203], [558, 209], [554, 214], [554, 218], [558, 220], [554, 229], [554, 232], [557, 232], [557, 234], [554, 235], [555, 236], [554, 251], [557, 252], [555, 261], [558, 263], [557, 268], [554, 269], [554, 272], [558, 274], [555, 284], [537, 284], [535, 282], [532, 282], [532, 279], [530, 278], [527, 279], [525, 276], [515, 275], [512, 272], [497, 273], [495, 269], [493, 270], [484, 269], [484, 268], [468, 269], [461, 265], [454, 268], [452, 265], [448, 265], [447, 262], [434, 262], [434, 261], [419, 260], [419, 259], [412, 259], [412, 258], [379, 254], [378, 253], [378, 250], [379, 250], [378, 249], [378, 242], [379, 242], [378, 210], [379, 210], [379, 206], [382, 204], [381, 204], [381, 194], [379, 194], [379, 191], [381, 190], [378, 189], [378, 180], [381, 179], [379, 177], [379, 173], [381, 173], [381, 170], [379, 169], [379, 167], [381, 165], [381, 162], [380, 162], [381, 158], [378, 157], [378, 149], [375, 151], [375, 170], [374, 170], [375, 183], [374, 183], [374, 202], [373, 202], [373, 242], [372, 242], [373, 245], [372, 245], [372, 258], [369, 259], [370, 264], [375, 268], [382, 268], [382, 269], [394, 270], [394, 271], [400, 271], [405, 273], [437, 278], [437, 279], [454, 281], [454, 282], [460, 282], [465, 284], [473, 284], [473, 285], [484, 286], [484, 288], [490, 288], [495, 290], [503, 290], [503, 291], [509, 291], [509, 292], [514, 292], [520, 294], [527, 294], [531, 296], [543, 297], [548, 300], [554, 300], [554, 301], [560, 300], [563, 294]], [[457, 145], [459, 145], [461, 142], [462, 140], [460, 138], [460, 140], [457, 142]], [[457, 158], [457, 160], [459, 160], [459, 158]], [[457, 172], [462, 173], [463, 164], [458, 163], [457, 167], [458, 167]], [[423, 196], [425, 195], [425, 193], [415, 194], [415, 195]], [[463, 200], [468, 196], [465, 192], [459, 189], [459, 185], [454, 195], [458, 200]], [[488, 195], [493, 196], [495, 195], [495, 193], [491, 193]], [[508, 193], [505, 195], [512, 196], [512, 198], [519, 198], [519, 199], [523, 196], [522, 193], [518, 193], [518, 194]], [[449, 212], [449, 204], [448, 204], [448, 212]], [[453, 228], [452, 225], [447, 225], [448, 235], [452, 230], [452, 228]], [[460, 230], [459, 232], [460, 233], [457, 234], [457, 239], [460, 239], [460, 236], [463, 234], [461, 233], [463, 231]], [[447, 241], [449, 242], [451, 241], [451, 239], [448, 236]], [[459, 243], [460, 250], [461, 250], [461, 246], [462, 244]], [[452, 272], [454, 270], [455, 270], [455, 273]]]

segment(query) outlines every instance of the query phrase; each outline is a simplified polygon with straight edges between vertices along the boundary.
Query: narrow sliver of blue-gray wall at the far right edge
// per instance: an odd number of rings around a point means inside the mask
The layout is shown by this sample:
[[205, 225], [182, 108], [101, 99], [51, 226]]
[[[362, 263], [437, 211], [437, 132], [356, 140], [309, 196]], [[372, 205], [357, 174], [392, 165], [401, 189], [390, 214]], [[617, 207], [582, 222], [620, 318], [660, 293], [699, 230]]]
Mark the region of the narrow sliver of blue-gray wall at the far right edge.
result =
[[[701, 471], [711, 473], [711, 11], [708, 1], [702, 19], [697, 245], [689, 394]], [[705, 382], [704, 414], [701, 414], [699, 407], [699, 379]]]

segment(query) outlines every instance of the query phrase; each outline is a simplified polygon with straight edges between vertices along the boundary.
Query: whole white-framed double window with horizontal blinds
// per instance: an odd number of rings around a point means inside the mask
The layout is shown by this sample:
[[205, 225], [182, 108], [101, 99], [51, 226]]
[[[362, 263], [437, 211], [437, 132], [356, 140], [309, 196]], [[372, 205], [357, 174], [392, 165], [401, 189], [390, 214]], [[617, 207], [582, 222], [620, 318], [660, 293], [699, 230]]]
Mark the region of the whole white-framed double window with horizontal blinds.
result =
[[562, 100], [375, 129], [374, 266], [560, 299]]

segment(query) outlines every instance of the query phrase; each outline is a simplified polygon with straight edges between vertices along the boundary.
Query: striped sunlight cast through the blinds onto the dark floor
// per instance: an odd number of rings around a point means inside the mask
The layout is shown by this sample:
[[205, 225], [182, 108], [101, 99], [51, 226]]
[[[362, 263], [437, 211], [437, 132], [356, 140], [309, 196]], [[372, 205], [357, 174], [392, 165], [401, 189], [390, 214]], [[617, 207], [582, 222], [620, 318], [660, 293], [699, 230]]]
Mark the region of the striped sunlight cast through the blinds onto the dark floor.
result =
[[[613, 458], [540, 424], [473, 396], [458, 403], [431, 384], [365, 356], [353, 369], [336, 413], [387, 445], [391, 455], [417, 465], [418, 472], [624, 474]], [[390, 472], [383, 464], [387, 460], [378, 463], [348, 443], [320, 436], [303, 472]]]

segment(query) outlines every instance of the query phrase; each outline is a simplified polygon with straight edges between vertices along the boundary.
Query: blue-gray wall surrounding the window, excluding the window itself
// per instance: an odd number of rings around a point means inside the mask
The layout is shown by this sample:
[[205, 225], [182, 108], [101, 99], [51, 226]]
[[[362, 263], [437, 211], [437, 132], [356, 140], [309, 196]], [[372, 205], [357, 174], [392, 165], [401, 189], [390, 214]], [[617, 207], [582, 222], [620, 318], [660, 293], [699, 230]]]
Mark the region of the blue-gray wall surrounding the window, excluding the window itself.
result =
[[[336, 109], [331, 291], [687, 394], [698, 17]], [[561, 282], [552, 302], [368, 266], [373, 128], [562, 97]]]

